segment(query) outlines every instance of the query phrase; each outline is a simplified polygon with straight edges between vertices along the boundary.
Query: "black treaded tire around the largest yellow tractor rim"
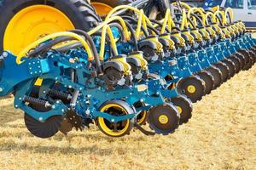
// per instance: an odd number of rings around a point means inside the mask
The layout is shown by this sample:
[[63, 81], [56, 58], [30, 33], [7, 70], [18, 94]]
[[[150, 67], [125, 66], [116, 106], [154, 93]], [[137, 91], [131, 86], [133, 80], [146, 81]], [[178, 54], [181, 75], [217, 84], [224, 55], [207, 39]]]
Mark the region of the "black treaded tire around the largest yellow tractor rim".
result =
[[101, 21], [95, 12], [95, 8], [84, 0], [0, 0], [0, 53], [3, 52], [3, 37], [9, 21], [20, 10], [32, 5], [54, 7], [65, 14], [75, 28], [84, 31], [89, 31]]

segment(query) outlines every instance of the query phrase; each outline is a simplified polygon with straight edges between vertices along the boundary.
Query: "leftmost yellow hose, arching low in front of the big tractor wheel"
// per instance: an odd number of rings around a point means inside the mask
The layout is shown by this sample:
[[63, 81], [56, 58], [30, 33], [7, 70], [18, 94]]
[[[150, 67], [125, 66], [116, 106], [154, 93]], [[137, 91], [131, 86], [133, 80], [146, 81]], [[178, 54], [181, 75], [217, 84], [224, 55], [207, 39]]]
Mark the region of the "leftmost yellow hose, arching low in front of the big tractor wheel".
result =
[[73, 38], [79, 40], [79, 42], [81, 42], [81, 43], [84, 45], [84, 48], [85, 48], [85, 50], [86, 50], [86, 52], [87, 52], [87, 54], [88, 54], [88, 60], [93, 60], [93, 59], [94, 59], [94, 57], [93, 57], [93, 55], [92, 55], [92, 53], [91, 53], [91, 51], [90, 51], [90, 46], [89, 46], [88, 43], [84, 40], [83, 37], [80, 37], [78, 34], [75, 34], [75, 33], [73, 33], [73, 32], [61, 31], [61, 32], [57, 32], [57, 33], [50, 34], [50, 35], [48, 35], [48, 36], [42, 37], [42, 38], [38, 39], [37, 41], [32, 42], [29, 46], [27, 46], [26, 48], [24, 48], [24, 49], [20, 52], [20, 54], [17, 55], [16, 63], [17, 63], [18, 65], [20, 65], [20, 64], [23, 62], [23, 61], [21, 61], [21, 59], [26, 56], [26, 54], [27, 54], [27, 52], [28, 52], [29, 50], [31, 50], [32, 48], [37, 48], [40, 43], [46, 42], [46, 41], [48, 41], [48, 40], [50, 40], [50, 39], [54, 39], [54, 38], [56, 38], [56, 37], [73, 37]]

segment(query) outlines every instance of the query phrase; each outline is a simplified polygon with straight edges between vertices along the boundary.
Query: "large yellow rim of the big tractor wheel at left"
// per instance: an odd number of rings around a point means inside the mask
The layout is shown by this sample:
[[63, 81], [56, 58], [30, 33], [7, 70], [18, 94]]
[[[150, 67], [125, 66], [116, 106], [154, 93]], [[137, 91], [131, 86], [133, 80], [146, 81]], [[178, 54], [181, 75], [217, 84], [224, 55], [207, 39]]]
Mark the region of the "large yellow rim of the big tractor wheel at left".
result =
[[72, 29], [71, 20], [57, 8], [33, 5], [23, 8], [9, 21], [3, 37], [3, 49], [19, 54], [40, 37]]

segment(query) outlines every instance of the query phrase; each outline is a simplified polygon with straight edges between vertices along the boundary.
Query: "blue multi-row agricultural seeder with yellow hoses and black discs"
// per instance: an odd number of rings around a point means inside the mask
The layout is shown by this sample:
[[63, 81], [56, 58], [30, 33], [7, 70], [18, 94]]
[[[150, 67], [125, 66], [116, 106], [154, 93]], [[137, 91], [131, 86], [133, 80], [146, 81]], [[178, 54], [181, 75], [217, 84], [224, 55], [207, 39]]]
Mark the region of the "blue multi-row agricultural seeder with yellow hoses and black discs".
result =
[[9, 40], [0, 57], [0, 95], [15, 96], [27, 129], [40, 138], [92, 123], [112, 137], [132, 129], [173, 133], [191, 118], [192, 102], [256, 60], [256, 41], [232, 21], [231, 8], [159, 1], [148, 14], [143, 8], [152, 2], [136, 1], [101, 19], [89, 3], [68, 2], [79, 7], [78, 19], [87, 17], [84, 27], [41, 33], [21, 49]]

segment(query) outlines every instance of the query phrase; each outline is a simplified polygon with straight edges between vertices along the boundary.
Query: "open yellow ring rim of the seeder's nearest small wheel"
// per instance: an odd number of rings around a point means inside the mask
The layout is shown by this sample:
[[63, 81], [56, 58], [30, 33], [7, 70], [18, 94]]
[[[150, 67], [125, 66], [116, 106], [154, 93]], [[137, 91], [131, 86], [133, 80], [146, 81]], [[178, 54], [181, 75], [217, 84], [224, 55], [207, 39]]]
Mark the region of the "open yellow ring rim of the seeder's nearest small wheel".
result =
[[[110, 109], [110, 108], [119, 109], [120, 111], [124, 111], [125, 114], [127, 114], [127, 111], [125, 111], [122, 106], [116, 105], [116, 104], [104, 105], [102, 107], [101, 111], [108, 112], [108, 109]], [[126, 133], [127, 129], [130, 126], [130, 120], [126, 120], [126, 121], [120, 122], [122, 124], [125, 122], [125, 126], [122, 129], [120, 129], [119, 131], [114, 131], [113, 129], [108, 127], [106, 122], [108, 122], [108, 121], [106, 119], [104, 119], [103, 117], [98, 117], [98, 126], [100, 126], [102, 128], [102, 131], [104, 131], [105, 133], [108, 133], [108, 135], [110, 135], [110, 136], [120, 136], [120, 135]]]

